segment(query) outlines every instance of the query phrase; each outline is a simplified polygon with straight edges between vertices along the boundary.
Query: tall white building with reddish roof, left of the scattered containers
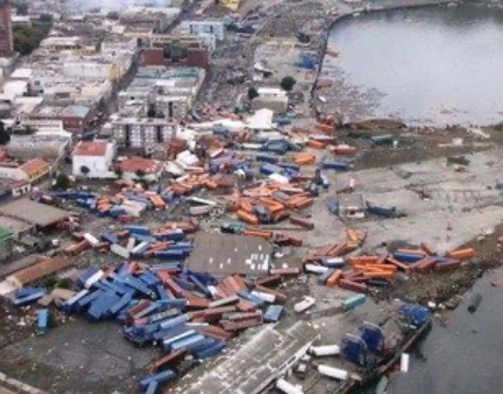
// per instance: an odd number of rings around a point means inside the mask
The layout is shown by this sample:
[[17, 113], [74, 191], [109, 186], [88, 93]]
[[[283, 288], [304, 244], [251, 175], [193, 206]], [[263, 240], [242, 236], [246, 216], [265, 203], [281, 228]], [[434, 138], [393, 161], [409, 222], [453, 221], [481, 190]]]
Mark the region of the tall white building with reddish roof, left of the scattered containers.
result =
[[73, 150], [73, 175], [91, 178], [113, 178], [110, 171], [115, 158], [115, 144], [107, 141], [81, 141]]

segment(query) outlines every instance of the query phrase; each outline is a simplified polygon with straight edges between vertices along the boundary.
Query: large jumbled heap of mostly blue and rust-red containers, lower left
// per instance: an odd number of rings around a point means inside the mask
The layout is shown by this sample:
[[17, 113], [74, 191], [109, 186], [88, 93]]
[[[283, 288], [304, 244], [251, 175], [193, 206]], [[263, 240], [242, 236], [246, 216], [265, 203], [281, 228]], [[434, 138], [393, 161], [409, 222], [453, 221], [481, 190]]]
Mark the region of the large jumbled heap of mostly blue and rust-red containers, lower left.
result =
[[[131, 227], [128, 231], [139, 236], [139, 229]], [[187, 254], [190, 247], [180, 248], [178, 242], [175, 251]], [[152, 374], [140, 382], [142, 391], [153, 393], [176, 379], [176, 364], [185, 356], [198, 360], [214, 357], [243, 329], [278, 322], [286, 297], [272, 287], [297, 274], [299, 269], [270, 269], [269, 275], [253, 281], [238, 275], [218, 280], [190, 271], [179, 262], [151, 266], [122, 263], [115, 269], [86, 269], [77, 278], [72, 297], [52, 300], [69, 315], [120, 323], [124, 337], [136, 346], [162, 348], [165, 355], [152, 366]], [[26, 306], [46, 296], [40, 288], [21, 289], [14, 292], [13, 303]], [[38, 329], [44, 333], [48, 310], [40, 310], [38, 316]]]

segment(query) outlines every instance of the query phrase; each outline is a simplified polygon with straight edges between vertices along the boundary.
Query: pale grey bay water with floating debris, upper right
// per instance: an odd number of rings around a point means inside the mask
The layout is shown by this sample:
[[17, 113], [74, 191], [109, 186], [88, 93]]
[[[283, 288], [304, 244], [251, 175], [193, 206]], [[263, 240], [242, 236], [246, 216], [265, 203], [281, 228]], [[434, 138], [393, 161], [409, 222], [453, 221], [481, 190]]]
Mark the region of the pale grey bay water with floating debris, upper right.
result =
[[440, 5], [361, 14], [338, 23], [321, 78], [349, 118], [409, 123], [503, 120], [503, 10]]

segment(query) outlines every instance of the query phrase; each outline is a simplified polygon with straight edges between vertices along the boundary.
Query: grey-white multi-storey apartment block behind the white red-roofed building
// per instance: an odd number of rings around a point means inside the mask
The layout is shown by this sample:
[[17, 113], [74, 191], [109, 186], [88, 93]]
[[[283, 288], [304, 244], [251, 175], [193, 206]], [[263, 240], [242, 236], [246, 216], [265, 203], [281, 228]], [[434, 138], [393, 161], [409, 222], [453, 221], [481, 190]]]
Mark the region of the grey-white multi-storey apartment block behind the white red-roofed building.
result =
[[119, 147], [148, 148], [167, 142], [177, 125], [167, 119], [119, 118], [112, 121], [113, 136]]

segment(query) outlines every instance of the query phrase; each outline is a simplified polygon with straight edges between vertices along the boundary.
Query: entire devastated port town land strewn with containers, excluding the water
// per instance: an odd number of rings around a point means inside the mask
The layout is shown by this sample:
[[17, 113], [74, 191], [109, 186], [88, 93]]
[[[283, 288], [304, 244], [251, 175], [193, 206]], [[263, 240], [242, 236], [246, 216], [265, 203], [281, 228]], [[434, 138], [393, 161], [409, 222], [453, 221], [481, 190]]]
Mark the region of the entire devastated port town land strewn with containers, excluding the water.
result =
[[430, 2], [42, 3], [0, 69], [0, 391], [385, 393], [500, 265], [501, 125], [330, 93], [335, 24]]

